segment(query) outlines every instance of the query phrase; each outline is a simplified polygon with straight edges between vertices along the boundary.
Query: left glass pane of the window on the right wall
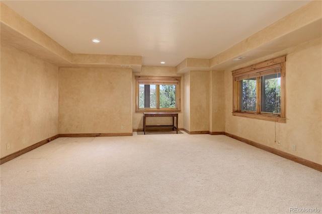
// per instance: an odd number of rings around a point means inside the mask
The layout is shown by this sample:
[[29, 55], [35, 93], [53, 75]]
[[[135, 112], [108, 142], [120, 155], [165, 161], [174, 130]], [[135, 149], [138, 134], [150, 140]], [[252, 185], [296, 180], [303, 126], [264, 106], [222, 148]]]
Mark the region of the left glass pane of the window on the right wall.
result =
[[256, 111], [256, 78], [241, 80], [241, 110]]

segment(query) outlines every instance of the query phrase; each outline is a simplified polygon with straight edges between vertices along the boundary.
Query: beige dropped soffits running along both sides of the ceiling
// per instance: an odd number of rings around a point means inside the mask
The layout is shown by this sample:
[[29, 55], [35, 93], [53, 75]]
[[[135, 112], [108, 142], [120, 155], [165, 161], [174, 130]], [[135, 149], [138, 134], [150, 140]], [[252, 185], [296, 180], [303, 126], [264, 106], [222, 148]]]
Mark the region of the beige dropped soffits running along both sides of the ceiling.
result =
[[[177, 73], [183, 74], [189, 70], [226, 69], [320, 37], [322, 24], [319, 8], [321, 2], [311, 2], [211, 59], [186, 58], [176, 66]], [[286, 28], [284, 31], [276, 33], [283, 27]], [[142, 66], [141, 56], [70, 53], [3, 3], [1, 3], [1, 39], [59, 66], [129, 65], [133, 72], [140, 72]], [[240, 61], [232, 60], [238, 56], [246, 58]]]

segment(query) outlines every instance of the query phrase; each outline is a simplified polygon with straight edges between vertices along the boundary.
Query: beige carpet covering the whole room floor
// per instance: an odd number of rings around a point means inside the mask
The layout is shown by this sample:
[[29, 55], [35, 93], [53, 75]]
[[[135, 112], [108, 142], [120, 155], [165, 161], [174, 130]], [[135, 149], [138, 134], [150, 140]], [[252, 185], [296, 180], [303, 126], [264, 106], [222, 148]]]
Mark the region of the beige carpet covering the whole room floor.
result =
[[1, 165], [1, 213], [322, 212], [322, 173], [224, 135], [61, 137]]

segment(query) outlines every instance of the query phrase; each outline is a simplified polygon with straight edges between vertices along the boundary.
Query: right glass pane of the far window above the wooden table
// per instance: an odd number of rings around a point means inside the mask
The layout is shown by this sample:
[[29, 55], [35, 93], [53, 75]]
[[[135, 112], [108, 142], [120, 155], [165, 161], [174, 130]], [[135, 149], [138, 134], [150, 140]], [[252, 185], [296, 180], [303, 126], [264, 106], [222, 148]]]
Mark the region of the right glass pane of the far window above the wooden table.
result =
[[176, 108], [176, 85], [160, 85], [160, 108]]

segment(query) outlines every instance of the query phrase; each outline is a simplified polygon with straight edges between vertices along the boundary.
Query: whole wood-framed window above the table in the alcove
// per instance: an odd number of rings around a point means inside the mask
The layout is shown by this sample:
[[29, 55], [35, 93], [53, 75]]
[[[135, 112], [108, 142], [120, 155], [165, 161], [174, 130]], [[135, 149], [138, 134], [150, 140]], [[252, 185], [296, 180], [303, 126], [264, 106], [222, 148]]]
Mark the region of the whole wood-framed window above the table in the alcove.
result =
[[180, 77], [135, 77], [136, 112], [179, 112]]

